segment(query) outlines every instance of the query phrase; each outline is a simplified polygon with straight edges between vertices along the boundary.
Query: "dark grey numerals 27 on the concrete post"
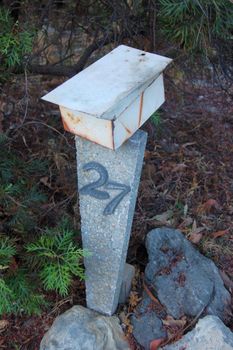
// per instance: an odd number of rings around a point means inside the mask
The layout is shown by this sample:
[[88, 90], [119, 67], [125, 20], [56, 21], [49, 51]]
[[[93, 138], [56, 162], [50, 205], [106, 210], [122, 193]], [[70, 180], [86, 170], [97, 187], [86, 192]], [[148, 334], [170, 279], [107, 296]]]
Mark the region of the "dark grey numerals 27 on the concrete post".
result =
[[108, 190], [120, 190], [120, 193], [106, 205], [103, 211], [103, 215], [113, 214], [122, 199], [131, 191], [130, 186], [109, 180], [107, 169], [100, 163], [89, 162], [83, 166], [83, 170], [95, 170], [99, 174], [99, 179], [83, 186], [79, 191], [80, 194], [89, 195], [99, 200], [106, 200], [110, 198], [110, 194], [107, 191], [99, 190], [100, 187], [103, 186]]

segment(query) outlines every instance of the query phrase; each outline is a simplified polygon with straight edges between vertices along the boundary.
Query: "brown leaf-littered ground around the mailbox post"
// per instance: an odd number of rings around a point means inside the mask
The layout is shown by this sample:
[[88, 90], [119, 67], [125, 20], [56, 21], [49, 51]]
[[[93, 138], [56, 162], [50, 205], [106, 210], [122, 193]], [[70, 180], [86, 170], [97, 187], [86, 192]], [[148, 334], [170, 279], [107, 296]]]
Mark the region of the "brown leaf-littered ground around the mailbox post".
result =
[[[26, 79], [26, 80], [25, 80]], [[9, 131], [12, 148], [25, 159], [47, 158], [51, 167], [41, 186], [48, 193], [40, 221], [55, 223], [68, 212], [80, 228], [76, 197], [74, 137], [66, 133], [56, 106], [40, 101], [63, 78], [18, 76], [4, 86], [0, 131]], [[127, 319], [143, 290], [147, 263], [144, 239], [159, 226], [179, 228], [219, 267], [233, 290], [233, 103], [211, 79], [181, 78], [168, 71], [166, 102], [149, 134], [138, 193], [128, 262], [137, 268], [130, 301], [119, 313]], [[73, 304], [85, 305], [84, 284], [76, 281], [69, 297], [47, 293], [51, 306], [40, 317], [3, 317], [0, 349], [39, 349], [53, 319]], [[132, 341], [132, 348], [138, 348]]]

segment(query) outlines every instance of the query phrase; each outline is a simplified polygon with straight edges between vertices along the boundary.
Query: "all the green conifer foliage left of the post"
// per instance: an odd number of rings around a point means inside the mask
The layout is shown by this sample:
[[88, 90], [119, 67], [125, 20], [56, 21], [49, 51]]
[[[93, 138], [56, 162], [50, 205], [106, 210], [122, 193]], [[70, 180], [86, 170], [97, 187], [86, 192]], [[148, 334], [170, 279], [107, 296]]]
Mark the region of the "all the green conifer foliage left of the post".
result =
[[84, 278], [77, 232], [63, 219], [53, 228], [38, 222], [46, 195], [39, 178], [48, 164], [23, 159], [0, 137], [0, 315], [39, 314], [45, 291], [61, 296], [74, 277]]

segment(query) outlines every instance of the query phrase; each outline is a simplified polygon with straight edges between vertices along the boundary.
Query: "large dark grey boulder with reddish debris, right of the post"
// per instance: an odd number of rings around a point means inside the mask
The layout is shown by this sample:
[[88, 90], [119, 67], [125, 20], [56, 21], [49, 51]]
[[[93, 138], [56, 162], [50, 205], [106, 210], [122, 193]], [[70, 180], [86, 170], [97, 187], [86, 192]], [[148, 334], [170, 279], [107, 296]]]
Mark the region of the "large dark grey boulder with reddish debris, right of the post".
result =
[[184, 235], [158, 228], [147, 235], [146, 280], [174, 318], [206, 314], [225, 317], [230, 294], [215, 264], [200, 254]]

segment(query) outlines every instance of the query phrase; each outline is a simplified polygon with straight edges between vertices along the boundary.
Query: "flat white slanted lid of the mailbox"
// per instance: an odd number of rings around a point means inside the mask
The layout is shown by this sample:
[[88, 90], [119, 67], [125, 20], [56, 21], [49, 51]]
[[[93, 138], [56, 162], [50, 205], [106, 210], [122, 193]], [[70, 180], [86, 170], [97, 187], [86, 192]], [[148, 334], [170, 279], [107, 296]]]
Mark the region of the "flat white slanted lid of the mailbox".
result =
[[82, 115], [116, 120], [170, 62], [120, 45], [42, 99]]

